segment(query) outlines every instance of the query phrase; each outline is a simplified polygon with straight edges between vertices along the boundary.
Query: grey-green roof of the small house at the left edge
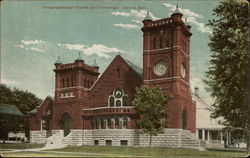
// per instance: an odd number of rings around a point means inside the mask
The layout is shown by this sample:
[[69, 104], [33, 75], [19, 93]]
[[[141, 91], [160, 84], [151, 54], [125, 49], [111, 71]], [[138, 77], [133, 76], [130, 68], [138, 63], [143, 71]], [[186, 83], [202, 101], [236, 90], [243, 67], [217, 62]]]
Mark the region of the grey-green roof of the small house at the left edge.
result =
[[16, 116], [23, 116], [21, 111], [15, 105], [10, 105], [10, 104], [0, 103], [0, 113], [1, 114], [16, 115]]

